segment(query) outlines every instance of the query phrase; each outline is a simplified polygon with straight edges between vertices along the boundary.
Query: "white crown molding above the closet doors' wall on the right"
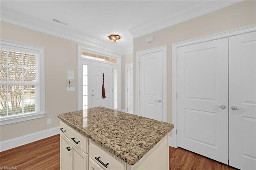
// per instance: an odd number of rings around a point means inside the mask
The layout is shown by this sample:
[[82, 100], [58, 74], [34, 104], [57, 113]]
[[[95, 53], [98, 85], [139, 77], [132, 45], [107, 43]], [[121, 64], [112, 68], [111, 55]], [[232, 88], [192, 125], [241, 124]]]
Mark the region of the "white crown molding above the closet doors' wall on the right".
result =
[[131, 28], [128, 31], [132, 34], [133, 38], [138, 38], [140, 36], [162, 30], [169, 26], [173, 26], [175, 24], [190, 20], [192, 18], [196, 18], [198, 16], [213, 12], [215, 10], [230, 6], [232, 4], [236, 4], [241, 1], [242, 0], [221, 0], [212, 2], [204, 6], [200, 6], [200, 4], [197, 4], [196, 6], [191, 6], [190, 8], [185, 10], [185, 12], [178, 12], [175, 15], [165, 17], [155, 22], [151, 22], [150, 24], [142, 24], [138, 27]]

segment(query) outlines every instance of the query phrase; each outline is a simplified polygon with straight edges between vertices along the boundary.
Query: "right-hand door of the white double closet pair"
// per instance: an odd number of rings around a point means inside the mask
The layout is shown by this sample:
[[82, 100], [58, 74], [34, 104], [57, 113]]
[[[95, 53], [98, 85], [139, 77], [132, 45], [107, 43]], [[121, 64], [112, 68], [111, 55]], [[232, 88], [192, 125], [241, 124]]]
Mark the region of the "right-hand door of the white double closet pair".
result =
[[256, 34], [230, 37], [229, 165], [256, 169]]

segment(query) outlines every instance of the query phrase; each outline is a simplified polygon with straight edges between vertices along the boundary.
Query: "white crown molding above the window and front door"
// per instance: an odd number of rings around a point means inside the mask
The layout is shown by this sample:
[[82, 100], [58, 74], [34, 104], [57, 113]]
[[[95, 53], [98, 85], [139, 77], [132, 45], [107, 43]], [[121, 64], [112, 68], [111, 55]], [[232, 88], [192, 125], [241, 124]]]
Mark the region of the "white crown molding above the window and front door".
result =
[[[29, 18], [29, 19], [24, 19], [24, 18]], [[66, 40], [70, 40], [73, 42], [88, 45], [95, 49], [117, 53], [119, 55], [124, 55], [124, 54], [133, 52], [133, 47], [132, 48], [128, 47], [128, 49], [122, 49], [112, 44], [108, 44], [108, 43], [90, 38], [88, 36], [84, 36], [82, 34], [78, 34], [70, 30], [66, 30], [64, 28], [51, 28], [47, 23], [42, 22], [40, 24], [34, 24], [36, 23], [36, 22], [33, 22], [33, 21], [36, 21], [34, 18], [21, 15], [17, 12], [7, 10], [6, 8], [1, 8], [1, 21], [14, 24], [16, 26], [28, 28], [30, 30], [35, 30], [38, 32], [49, 34], [52, 36], [56, 36], [59, 38], [64, 38]]]

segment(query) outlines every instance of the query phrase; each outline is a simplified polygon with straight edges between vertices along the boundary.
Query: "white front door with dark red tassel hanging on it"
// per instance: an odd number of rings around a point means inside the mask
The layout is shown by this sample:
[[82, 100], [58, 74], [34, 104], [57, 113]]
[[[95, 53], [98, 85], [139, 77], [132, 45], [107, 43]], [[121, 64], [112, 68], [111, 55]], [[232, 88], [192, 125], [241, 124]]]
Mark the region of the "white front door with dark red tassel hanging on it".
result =
[[[113, 109], [113, 69], [111, 64], [92, 61], [91, 64], [91, 96], [92, 107]], [[104, 73], [104, 88], [106, 98], [102, 98], [102, 81]]]

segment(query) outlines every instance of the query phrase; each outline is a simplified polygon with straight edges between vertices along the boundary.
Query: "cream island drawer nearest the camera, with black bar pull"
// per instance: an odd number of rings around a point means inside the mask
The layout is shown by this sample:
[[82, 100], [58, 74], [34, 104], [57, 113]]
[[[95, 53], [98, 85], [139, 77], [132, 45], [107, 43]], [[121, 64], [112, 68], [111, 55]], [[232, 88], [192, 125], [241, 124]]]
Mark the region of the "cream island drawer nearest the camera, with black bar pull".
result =
[[97, 169], [103, 169], [103, 170], [125, 170], [126, 169], [126, 163], [124, 161], [112, 155], [110, 152], [108, 152], [107, 150], [105, 150], [104, 148], [102, 148], [92, 140], [89, 140], [89, 142], [90, 142], [89, 143], [89, 167], [94, 168], [96, 165], [98, 165], [98, 167], [101, 167], [101, 168], [97, 168]]

